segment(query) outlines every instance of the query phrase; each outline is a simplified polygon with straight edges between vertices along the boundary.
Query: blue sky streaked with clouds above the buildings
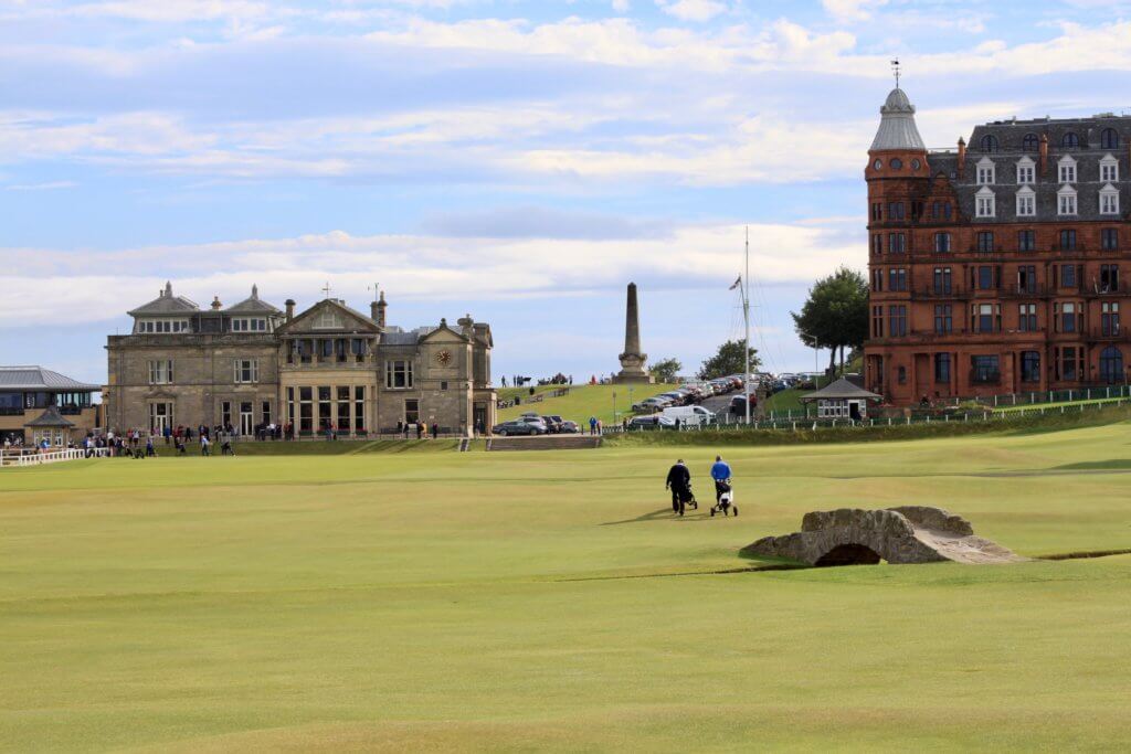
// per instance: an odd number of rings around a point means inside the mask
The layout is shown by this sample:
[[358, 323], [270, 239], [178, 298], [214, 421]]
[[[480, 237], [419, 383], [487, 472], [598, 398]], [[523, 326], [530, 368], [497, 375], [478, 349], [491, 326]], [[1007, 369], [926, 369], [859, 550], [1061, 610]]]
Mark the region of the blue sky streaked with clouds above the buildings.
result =
[[[741, 337], [811, 370], [814, 279], [866, 265], [890, 61], [931, 147], [1131, 111], [1113, 0], [0, 0], [0, 363], [104, 382], [165, 280], [202, 306], [374, 285], [470, 313], [494, 372]], [[823, 355], [821, 356], [824, 361]]]

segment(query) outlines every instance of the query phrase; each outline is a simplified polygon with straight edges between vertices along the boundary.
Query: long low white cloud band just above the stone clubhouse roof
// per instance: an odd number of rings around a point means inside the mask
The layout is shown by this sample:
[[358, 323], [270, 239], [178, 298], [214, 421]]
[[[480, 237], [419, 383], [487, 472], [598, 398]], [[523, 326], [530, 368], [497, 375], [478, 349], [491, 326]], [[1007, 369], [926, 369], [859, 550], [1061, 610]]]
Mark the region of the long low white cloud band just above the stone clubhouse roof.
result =
[[[838, 265], [862, 262], [862, 245], [821, 227], [751, 226], [752, 265], [763, 284], [808, 283]], [[353, 236], [336, 231], [280, 240], [104, 252], [97, 268], [71, 251], [0, 249], [6, 278], [0, 322], [6, 327], [116, 319], [154, 298], [166, 277], [197, 302], [244, 296], [252, 284], [279, 305], [288, 296], [309, 303], [313, 280], [330, 280], [355, 305], [380, 280], [403, 301], [472, 297], [554, 297], [613, 291], [629, 277], [683, 288], [728, 283], [737, 269], [743, 228], [687, 225], [646, 239], [450, 239], [426, 235]], [[648, 260], [641, 270], [640, 260]], [[98, 270], [98, 271], [95, 271]], [[201, 270], [207, 270], [201, 272]], [[223, 271], [219, 271], [223, 270]], [[120, 306], [106, 306], [106, 291]], [[303, 296], [305, 292], [305, 296]]]

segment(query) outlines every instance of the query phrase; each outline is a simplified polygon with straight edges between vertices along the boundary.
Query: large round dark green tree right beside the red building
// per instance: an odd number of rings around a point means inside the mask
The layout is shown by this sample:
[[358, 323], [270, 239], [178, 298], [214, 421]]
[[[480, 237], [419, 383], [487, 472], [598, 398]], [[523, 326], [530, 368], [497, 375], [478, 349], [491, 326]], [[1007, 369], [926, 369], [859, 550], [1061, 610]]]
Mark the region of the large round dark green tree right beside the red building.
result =
[[845, 348], [860, 348], [867, 339], [867, 280], [841, 267], [809, 289], [801, 313], [791, 312], [802, 343], [829, 349], [829, 372], [836, 369], [837, 349], [844, 366]]

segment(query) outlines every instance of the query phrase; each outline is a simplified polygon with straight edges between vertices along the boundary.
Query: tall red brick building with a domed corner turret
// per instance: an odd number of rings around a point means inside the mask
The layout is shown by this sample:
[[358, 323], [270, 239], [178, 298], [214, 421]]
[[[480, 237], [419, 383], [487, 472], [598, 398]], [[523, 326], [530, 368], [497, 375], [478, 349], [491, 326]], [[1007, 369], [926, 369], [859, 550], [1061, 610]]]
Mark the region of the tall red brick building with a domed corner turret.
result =
[[1131, 118], [995, 121], [929, 151], [901, 89], [880, 113], [867, 388], [907, 405], [1124, 384]]

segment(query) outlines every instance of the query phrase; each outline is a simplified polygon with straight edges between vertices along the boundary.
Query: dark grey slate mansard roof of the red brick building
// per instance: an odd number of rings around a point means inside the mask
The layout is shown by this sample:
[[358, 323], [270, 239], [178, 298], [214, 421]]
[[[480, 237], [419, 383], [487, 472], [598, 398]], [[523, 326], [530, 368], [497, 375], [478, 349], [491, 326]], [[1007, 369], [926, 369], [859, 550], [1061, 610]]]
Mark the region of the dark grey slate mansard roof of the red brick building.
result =
[[[1100, 135], [1105, 129], [1113, 129], [1119, 135], [1115, 148], [1100, 147]], [[1076, 133], [1080, 146], [1067, 148], [1061, 146], [1065, 133]], [[1024, 149], [1025, 137], [1033, 135], [1039, 139], [1048, 137], [1048, 164], [1041, 172], [1041, 156], [1037, 150]], [[993, 136], [998, 140], [996, 151], [982, 151], [982, 139]], [[1128, 145], [1131, 144], [1131, 118], [1117, 115], [1097, 115], [1094, 118], [1077, 118], [1064, 120], [1041, 119], [1036, 121], [1002, 121], [984, 123], [974, 128], [970, 146], [966, 153], [966, 168], [958, 174], [958, 155], [953, 151], [931, 151], [927, 163], [931, 173], [942, 173], [953, 187], [958, 197], [959, 216], [977, 223], [1039, 223], [1039, 222], [1122, 222], [1131, 209], [1131, 157]], [[1064, 185], [1060, 183], [1059, 162], [1065, 155], [1076, 161], [1077, 181], [1072, 188], [1077, 192], [1077, 214], [1072, 216], [1057, 215], [1057, 191]], [[1099, 192], [1107, 182], [1099, 180], [1099, 163], [1111, 155], [1119, 163], [1119, 181], [1112, 183], [1120, 192], [1120, 214], [1099, 214]], [[1021, 189], [1017, 183], [1017, 163], [1028, 157], [1036, 163], [1036, 183], [1031, 189], [1036, 192], [1036, 216], [1018, 217], [1017, 192]], [[995, 216], [975, 217], [975, 194], [983, 188], [977, 183], [977, 164], [988, 158], [994, 164], [995, 182], [990, 184], [994, 192]]]

